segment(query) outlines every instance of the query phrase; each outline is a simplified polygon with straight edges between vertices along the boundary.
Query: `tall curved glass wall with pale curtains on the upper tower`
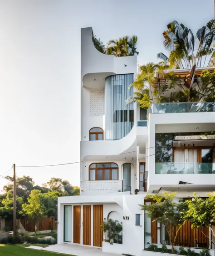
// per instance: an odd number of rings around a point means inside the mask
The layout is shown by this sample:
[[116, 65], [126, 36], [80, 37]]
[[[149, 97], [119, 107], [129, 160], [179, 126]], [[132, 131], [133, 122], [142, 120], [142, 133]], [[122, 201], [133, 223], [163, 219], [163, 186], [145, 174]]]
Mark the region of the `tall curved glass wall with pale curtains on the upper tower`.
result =
[[134, 124], [134, 74], [113, 75], [105, 79], [105, 139], [125, 137]]

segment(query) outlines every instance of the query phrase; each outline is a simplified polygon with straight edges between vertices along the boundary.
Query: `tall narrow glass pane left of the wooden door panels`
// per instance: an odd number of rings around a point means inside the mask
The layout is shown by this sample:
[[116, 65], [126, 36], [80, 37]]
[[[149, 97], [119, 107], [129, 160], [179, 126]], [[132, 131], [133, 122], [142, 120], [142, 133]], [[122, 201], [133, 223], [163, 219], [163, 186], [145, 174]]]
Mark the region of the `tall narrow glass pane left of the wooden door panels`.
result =
[[72, 241], [72, 205], [64, 205], [64, 242]]

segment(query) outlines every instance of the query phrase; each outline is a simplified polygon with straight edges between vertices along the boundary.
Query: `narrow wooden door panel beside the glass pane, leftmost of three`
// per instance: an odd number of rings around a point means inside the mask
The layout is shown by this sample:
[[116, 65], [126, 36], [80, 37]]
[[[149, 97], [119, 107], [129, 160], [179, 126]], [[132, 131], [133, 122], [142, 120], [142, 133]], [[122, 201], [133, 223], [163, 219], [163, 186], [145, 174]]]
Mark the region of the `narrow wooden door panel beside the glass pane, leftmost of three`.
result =
[[74, 205], [73, 208], [73, 243], [81, 243], [81, 206]]

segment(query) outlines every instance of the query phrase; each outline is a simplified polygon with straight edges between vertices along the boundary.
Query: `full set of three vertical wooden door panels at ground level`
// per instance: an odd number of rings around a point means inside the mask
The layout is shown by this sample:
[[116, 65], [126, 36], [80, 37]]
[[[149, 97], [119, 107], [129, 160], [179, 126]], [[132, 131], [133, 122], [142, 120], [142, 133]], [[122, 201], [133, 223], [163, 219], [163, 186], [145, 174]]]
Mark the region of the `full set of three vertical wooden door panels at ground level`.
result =
[[[93, 205], [93, 246], [102, 247], [103, 205]], [[83, 245], [91, 245], [91, 205], [83, 205], [83, 223], [81, 224], [81, 206], [73, 207], [73, 243], [81, 243], [81, 225], [83, 225]]]

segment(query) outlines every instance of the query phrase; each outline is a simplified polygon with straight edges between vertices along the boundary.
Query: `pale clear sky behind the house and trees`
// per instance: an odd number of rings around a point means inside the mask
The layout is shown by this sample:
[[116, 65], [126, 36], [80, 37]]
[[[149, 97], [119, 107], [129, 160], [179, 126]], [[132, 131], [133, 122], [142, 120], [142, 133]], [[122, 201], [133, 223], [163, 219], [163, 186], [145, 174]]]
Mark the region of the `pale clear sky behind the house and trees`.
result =
[[[0, 0], [0, 174], [12, 164], [80, 160], [80, 30], [106, 44], [138, 37], [140, 65], [164, 52], [162, 32], [177, 20], [195, 34], [214, 18], [214, 0]], [[6, 175], [12, 175], [11, 169]], [[35, 184], [80, 184], [79, 164], [16, 168]], [[0, 190], [7, 180], [0, 178]]]

